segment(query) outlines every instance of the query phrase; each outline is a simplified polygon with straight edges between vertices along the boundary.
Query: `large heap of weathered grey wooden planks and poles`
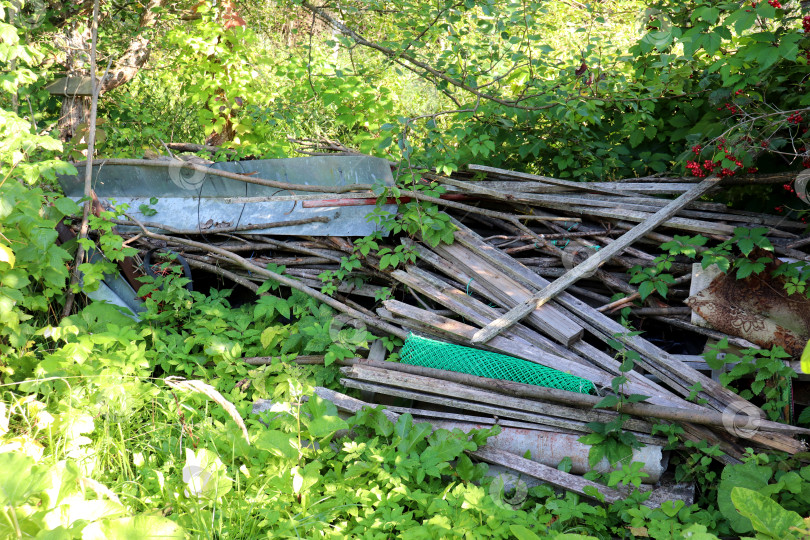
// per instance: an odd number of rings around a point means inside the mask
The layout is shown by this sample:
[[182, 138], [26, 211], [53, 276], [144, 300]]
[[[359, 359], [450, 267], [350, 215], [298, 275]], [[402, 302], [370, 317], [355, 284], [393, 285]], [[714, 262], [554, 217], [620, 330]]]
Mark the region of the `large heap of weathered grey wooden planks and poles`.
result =
[[[244, 181], [261, 183], [252, 176]], [[631, 320], [641, 330], [668, 328], [684, 342], [725, 337], [732, 344], [750, 345], [744, 337], [692, 324], [691, 311], [683, 304], [691, 261], [676, 260], [671, 269], [676, 279], [666, 299], [651, 297], [646, 303], [638, 302], [627, 273], [635, 266], [653, 266], [660, 244], [674, 235], [702, 234], [723, 241], [737, 227], [765, 227], [776, 255], [810, 261], [803, 223], [700, 200], [729, 181], [742, 180], [659, 177], [581, 183], [486, 166], [470, 166], [452, 177], [427, 173], [422, 182], [443, 186], [444, 195], [402, 189], [399, 199], [385, 202], [439, 205], [450, 216], [452, 244], [431, 245], [418, 235], [389, 236], [379, 247], [404, 246], [413, 262], [392, 268], [381, 265], [374, 252], [360, 256], [329, 295], [320, 290], [324, 272], [340, 269], [356, 253], [352, 238], [305, 231], [296, 236], [255, 234], [250, 224], [205, 234], [156, 232], [160, 227], [131, 217], [122, 224], [139, 227], [137, 234], [127, 234], [137, 236], [132, 245], [168, 247], [192, 268], [254, 292], [263, 280], [275, 279], [378, 336], [405, 339], [413, 333], [513, 356], [586, 378], [602, 395], [613, 393], [614, 379], [623, 377], [623, 395], [648, 396], [644, 403], [621, 404], [621, 413], [632, 417], [625, 429], [654, 444], [661, 441], [652, 434], [653, 422], [677, 423], [683, 440], [719, 445], [724, 452], [719, 459], [734, 463], [751, 446], [798, 453], [805, 449], [800, 436], [810, 431], [767, 420], [759, 407], [695, 369], [694, 357], [685, 350], [667, 352], [646, 339], [647, 334], [630, 332], [617, 320], [618, 310], [630, 307]], [[364, 189], [368, 187], [358, 185], [349, 197], [344, 191], [304, 202], [316, 207], [370, 205], [377, 195]], [[268, 265], [285, 270], [279, 273]], [[617, 293], [625, 297], [615, 300]], [[565, 433], [586, 433], [588, 422], [611, 421], [618, 414], [616, 407], [594, 410], [598, 396], [383, 363], [374, 347], [369, 356], [345, 362], [344, 386], [429, 404], [447, 414]], [[635, 361], [626, 371], [622, 363], [628, 357]]]

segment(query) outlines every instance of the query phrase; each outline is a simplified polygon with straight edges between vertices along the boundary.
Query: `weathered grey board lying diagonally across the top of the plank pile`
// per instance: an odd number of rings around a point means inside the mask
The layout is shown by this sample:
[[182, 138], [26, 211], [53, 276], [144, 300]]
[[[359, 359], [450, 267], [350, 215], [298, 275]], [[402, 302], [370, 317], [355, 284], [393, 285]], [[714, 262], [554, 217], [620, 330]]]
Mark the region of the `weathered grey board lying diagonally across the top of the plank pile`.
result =
[[677, 214], [678, 211], [684, 206], [715, 187], [721, 181], [722, 179], [716, 176], [706, 178], [701, 183], [669, 203], [667, 206], [633, 227], [626, 234], [616, 239], [615, 242], [604, 247], [603, 249], [600, 249], [597, 253], [566, 272], [562, 277], [555, 280], [548, 287], [537, 292], [537, 294], [525, 302], [519, 304], [502, 317], [492, 321], [486, 327], [476, 332], [471, 340], [472, 343], [486, 343], [498, 335], [501, 331], [520, 321], [526, 315], [567, 289], [570, 285], [576, 283], [580, 278], [585, 276], [585, 274], [596, 270], [599, 265], [602, 264], [602, 262], [607, 261], [614, 255], [619, 254], [625, 247], [629, 246], [648, 232], [652, 231], [655, 227]]

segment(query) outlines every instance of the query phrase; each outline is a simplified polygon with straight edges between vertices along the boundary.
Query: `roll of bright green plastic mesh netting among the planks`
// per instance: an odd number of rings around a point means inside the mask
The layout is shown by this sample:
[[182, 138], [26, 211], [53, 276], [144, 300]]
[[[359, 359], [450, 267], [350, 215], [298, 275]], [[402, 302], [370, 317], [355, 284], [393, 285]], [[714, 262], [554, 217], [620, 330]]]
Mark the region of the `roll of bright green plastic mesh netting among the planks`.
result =
[[409, 334], [400, 352], [401, 362], [490, 379], [504, 379], [580, 394], [595, 391], [591, 381], [534, 362], [503, 354], [443, 343]]

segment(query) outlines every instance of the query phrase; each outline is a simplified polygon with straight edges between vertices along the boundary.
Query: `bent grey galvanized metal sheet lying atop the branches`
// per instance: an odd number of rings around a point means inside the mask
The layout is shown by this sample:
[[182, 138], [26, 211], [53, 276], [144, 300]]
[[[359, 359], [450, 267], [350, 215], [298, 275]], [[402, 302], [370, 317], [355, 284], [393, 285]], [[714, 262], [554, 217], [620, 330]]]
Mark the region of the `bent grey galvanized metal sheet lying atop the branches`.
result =
[[[351, 184], [385, 184], [394, 179], [385, 160], [370, 156], [313, 156], [304, 158], [231, 161], [214, 163], [213, 169], [250, 174], [266, 180], [300, 185], [347, 186]], [[61, 176], [59, 183], [65, 195], [79, 200], [84, 194], [84, 166], [77, 165], [75, 176]], [[173, 161], [166, 167], [143, 165], [96, 165], [93, 167], [93, 190], [104, 202], [126, 203], [135, 218], [153, 221], [175, 229], [192, 229], [205, 233], [212, 227], [233, 227], [276, 223], [312, 217], [325, 217], [326, 223], [277, 227], [251, 231], [252, 234], [365, 236], [378, 227], [366, 218], [374, 206], [322, 206], [304, 208], [296, 201], [240, 202], [234, 197], [272, 197], [312, 195], [312, 192], [280, 190], [257, 184], [214, 176], [184, 167]], [[157, 204], [151, 205], [150, 198]], [[325, 196], [324, 199], [334, 197]], [[148, 205], [156, 211], [145, 216], [139, 207]], [[389, 212], [395, 205], [385, 205]]]

